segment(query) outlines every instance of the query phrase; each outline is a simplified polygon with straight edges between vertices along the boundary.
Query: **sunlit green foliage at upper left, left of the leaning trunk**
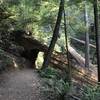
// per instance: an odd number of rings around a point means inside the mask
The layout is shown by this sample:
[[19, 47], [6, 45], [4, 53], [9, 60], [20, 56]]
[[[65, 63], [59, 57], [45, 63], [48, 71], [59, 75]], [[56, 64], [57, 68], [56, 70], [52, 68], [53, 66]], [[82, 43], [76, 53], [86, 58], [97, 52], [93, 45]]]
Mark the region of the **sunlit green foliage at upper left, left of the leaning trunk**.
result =
[[[3, 0], [1, 4], [6, 8], [5, 11], [12, 14], [7, 23], [8, 29], [30, 30], [35, 38], [48, 41], [45, 38], [50, 37], [51, 29], [54, 28], [59, 0]], [[51, 29], [45, 28], [48, 26]]]

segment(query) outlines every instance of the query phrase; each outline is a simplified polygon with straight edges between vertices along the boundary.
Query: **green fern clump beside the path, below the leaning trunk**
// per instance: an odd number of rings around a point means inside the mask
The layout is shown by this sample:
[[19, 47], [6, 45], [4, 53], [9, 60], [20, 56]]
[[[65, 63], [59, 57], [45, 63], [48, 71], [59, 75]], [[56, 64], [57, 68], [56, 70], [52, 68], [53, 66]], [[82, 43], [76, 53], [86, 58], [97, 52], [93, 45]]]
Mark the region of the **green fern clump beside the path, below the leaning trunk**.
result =
[[40, 72], [42, 78], [44, 78], [45, 88], [44, 91], [50, 91], [51, 89], [59, 95], [65, 94], [70, 86], [64, 81], [63, 75], [54, 68], [46, 68]]

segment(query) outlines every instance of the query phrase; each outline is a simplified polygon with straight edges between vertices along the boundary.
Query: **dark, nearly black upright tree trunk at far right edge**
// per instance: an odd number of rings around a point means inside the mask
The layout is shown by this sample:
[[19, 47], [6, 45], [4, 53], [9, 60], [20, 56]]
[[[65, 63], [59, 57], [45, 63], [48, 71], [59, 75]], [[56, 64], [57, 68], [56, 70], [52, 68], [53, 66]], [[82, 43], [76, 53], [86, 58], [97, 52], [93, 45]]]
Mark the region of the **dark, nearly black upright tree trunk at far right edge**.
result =
[[98, 15], [98, 0], [94, 0], [94, 23], [96, 34], [96, 52], [97, 52], [97, 65], [98, 65], [98, 82], [100, 82], [100, 25]]

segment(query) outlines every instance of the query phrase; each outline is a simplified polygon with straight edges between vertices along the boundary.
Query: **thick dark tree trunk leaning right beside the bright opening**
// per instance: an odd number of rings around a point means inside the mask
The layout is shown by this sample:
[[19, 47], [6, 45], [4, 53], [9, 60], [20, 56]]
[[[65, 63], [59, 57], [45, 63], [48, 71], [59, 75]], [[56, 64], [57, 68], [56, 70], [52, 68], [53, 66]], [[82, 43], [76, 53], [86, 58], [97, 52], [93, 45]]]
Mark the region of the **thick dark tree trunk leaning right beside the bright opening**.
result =
[[58, 36], [59, 36], [59, 29], [60, 29], [60, 23], [61, 23], [61, 19], [62, 19], [63, 10], [64, 10], [64, 0], [61, 0], [60, 1], [60, 5], [59, 5], [59, 12], [58, 12], [56, 25], [55, 25], [55, 28], [54, 28], [54, 31], [53, 31], [52, 40], [51, 40], [50, 46], [48, 48], [47, 54], [46, 54], [46, 56], [44, 58], [43, 67], [42, 68], [48, 67], [48, 65], [49, 65], [52, 52], [54, 50], [56, 41], [57, 41]]

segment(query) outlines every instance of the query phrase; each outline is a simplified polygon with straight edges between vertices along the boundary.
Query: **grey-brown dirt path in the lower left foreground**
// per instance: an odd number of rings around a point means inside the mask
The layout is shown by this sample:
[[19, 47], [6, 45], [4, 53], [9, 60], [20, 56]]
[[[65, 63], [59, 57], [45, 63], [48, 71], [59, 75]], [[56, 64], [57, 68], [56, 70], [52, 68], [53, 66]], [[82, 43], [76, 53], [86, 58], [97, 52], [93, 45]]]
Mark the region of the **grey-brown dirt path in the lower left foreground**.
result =
[[46, 100], [41, 96], [40, 83], [32, 69], [4, 72], [0, 75], [0, 100]]

